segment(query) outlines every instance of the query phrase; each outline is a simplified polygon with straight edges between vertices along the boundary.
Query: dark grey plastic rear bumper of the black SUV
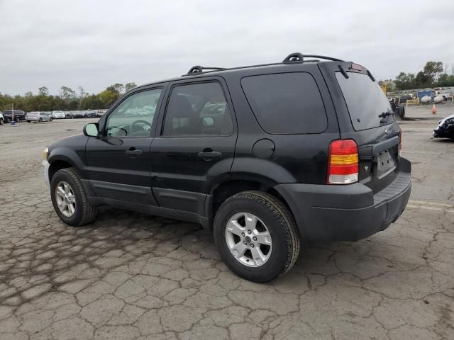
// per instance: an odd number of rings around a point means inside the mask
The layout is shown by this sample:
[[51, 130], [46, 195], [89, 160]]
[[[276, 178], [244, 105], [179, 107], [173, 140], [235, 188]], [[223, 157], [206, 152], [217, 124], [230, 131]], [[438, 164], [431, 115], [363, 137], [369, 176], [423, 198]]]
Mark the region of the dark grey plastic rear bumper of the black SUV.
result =
[[386, 229], [402, 214], [411, 192], [411, 163], [401, 158], [396, 179], [375, 194], [361, 183], [275, 188], [289, 204], [303, 239], [358, 241]]

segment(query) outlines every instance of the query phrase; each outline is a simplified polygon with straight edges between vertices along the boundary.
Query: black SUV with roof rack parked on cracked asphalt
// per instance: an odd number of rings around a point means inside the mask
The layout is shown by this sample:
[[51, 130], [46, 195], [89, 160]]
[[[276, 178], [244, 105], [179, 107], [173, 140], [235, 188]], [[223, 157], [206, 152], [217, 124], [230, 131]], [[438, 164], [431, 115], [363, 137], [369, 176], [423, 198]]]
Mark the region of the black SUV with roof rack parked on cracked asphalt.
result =
[[43, 165], [68, 225], [98, 205], [197, 222], [233, 272], [265, 282], [301, 240], [355, 241], [395, 222], [411, 188], [400, 147], [370, 71], [294, 53], [139, 86], [46, 148]]

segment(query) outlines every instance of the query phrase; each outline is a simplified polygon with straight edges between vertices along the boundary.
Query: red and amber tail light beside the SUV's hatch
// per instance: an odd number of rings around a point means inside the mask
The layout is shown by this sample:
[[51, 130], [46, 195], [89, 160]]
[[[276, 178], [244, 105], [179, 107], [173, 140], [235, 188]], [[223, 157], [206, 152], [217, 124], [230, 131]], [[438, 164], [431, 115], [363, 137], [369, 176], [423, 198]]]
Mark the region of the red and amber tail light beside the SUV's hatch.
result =
[[358, 182], [358, 145], [354, 140], [333, 140], [329, 145], [328, 184]]

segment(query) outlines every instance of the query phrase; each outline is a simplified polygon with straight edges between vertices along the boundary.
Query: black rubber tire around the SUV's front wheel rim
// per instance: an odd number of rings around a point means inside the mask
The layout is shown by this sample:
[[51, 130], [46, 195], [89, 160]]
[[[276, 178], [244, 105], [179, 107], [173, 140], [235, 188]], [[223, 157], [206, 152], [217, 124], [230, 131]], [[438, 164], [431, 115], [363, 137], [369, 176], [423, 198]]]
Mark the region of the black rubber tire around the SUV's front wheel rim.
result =
[[[75, 211], [72, 216], [66, 216], [64, 212], [60, 210], [57, 203], [57, 194], [55, 190], [57, 185], [65, 182], [72, 189], [73, 196], [75, 198]], [[96, 219], [96, 207], [89, 203], [87, 195], [84, 191], [84, 186], [79, 179], [79, 175], [74, 168], [60, 169], [52, 177], [50, 182], [50, 198], [52, 199], [52, 205], [54, 206], [55, 212], [57, 212], [60, 220], [65, 222], [67, 225], [78, 227], [81, 225], [87, 225]]]

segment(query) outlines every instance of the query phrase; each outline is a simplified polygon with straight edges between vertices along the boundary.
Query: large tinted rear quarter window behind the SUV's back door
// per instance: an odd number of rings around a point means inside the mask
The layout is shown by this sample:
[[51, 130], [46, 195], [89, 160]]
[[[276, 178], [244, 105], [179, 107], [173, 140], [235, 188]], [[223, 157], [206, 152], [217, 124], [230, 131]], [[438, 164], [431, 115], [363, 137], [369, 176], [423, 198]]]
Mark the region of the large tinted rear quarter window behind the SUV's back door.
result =
[[321, 133], [328, 126], [319, 88], [309, 73], [245, 77], [241, 86], [255, 118], [268, 133]]

